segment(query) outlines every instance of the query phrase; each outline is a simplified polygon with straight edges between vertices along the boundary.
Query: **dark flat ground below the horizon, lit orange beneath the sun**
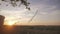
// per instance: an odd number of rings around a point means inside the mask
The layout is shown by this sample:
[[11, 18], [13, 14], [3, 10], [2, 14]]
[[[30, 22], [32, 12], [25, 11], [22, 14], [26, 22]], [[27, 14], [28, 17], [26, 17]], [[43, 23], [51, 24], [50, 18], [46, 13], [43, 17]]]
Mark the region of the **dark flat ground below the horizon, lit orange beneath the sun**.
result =
[[60, 26], [3, 26], [0, 34], [60, 34]]

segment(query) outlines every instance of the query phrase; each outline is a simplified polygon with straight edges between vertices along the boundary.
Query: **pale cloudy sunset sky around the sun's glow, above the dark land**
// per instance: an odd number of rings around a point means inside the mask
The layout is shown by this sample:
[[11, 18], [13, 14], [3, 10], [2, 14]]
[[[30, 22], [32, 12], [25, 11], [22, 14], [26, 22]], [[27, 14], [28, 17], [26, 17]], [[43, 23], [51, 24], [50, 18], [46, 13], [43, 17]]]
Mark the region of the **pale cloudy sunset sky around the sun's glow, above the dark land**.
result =
[[[12, 7], [9, 2], [0, 1], [2, 4], [0, 15], [6, 17], [5, 22], [15, 21], [16, 25], [60, 25], [60, 0], [28, 0], [28, 2], [30, 11], [25, 9], [24, 5]], [[28, 23], [37, 10], [36, 16]]]

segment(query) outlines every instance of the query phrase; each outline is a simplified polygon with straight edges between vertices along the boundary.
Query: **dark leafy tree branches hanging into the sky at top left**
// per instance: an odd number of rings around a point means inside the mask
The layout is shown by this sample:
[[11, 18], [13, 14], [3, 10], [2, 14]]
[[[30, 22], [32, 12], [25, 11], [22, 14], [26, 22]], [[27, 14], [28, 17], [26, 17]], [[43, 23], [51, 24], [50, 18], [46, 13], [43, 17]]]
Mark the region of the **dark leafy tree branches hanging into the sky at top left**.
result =
[[[18, 6], [17, 5], [17, 2], [20, 2], [19, 3], [19, 6], [20, 6], [20, 4], [23, 4], [25, 7], [26, 7], [26, 9], [28, 9], [28, 10], [30, 10], [30, 7], [28, 7], [29, 6], [29, 2], [27, 2], [27, 0], [1, 0], [1, 1], [3, 1], [3, 2], [10, 2], [10, 4], [13, 6], [13, 7], [16, 7], [16, 6]], [[1, 3], [0, 3], [0, 5], [1, 5]], [[8, 5], [6, 5], [6, 6], [8, 6]]]

